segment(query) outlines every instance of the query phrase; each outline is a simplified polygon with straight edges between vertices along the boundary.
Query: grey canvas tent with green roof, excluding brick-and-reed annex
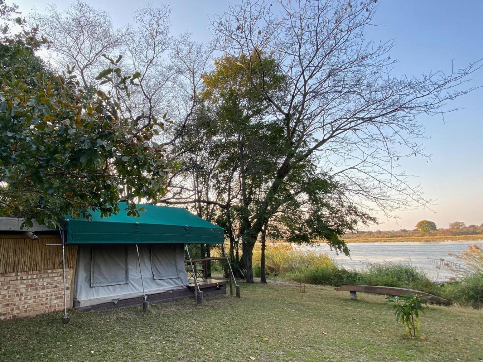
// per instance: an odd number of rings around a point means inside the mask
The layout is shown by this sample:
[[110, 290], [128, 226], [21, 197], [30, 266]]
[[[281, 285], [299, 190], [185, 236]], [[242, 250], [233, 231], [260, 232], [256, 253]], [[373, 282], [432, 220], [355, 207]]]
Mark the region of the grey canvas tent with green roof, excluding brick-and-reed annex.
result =
[[[126, 299], [136, 303], [132, 298], [144, 294], [157, 301], [174, 291], [187, 292], [185, 244], [223, 243], [221, 227], [186, 209], [143, 207], [140, 218], [125, 212], [108, 218], [94, 213], [91, 221], [64, 221], [67, 246], [78, 248], [75, 306], [107, 307]], [[169, 295], [162, 295], [167, 291]]]

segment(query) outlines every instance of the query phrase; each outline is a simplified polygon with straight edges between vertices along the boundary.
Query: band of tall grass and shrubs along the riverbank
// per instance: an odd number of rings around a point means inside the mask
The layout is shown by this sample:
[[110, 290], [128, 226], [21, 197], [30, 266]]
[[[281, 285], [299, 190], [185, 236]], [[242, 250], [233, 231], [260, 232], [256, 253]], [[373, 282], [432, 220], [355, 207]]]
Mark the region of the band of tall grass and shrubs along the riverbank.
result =
[[[254, 274], [260, 276], [261, 252], [254, 251]], [[448, 299], [452, 303], [483, 307], [483, 251], [476, 245], [457, 256], [464, 262], [460, 280], [446, 283], [431, 281], [425, 272], [412, 265], [384, 263], [371, 264], [359, 271], [347, 270], [334, 263], [327, 254], [301, 251], [288, 243], [271, 244], [265, 253], [267, 276], [278, 276], [300, 283], [331, 285], [380, 285], [410, 288]], [[458, 270], [463, 270], [463, 267]]]

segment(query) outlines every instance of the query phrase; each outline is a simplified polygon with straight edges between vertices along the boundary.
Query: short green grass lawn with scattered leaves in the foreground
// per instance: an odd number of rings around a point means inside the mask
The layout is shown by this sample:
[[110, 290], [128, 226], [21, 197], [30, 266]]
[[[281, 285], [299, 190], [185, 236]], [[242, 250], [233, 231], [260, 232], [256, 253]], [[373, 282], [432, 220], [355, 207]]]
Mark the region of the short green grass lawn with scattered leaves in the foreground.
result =
[[481, 310], [430, 306], [425, 339], [403, 340], [383, 296], [244, 283], [241, 296], [0, 321], [0, 361], [483, 361]]

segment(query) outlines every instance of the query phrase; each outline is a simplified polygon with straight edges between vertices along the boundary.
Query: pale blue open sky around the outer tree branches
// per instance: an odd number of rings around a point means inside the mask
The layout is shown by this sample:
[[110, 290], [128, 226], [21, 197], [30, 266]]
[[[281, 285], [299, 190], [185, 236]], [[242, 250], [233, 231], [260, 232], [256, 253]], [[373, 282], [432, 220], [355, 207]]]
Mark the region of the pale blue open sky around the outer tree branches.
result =
[[[86, 0], [109, 12], [115, 26], [131, 20], [141, 1]], [[47, 3], [64, 9], [69, 0], [17, 0], [20, 10], [28, 14], [35, 5], [43, 11]], [[195, 40], [209, 42], [208, 16], [223, 12], [227, 2], [214, 0], [153, 1], [172, 7], [172, 32], [193, 33]], [[380, 0], [375, 24], [369, 29], [375, 40], [395, 39], [392, 59], [398, 59], [395, 75], [419, 75], [430, 70], [449, 70], [451, 61], [465, 66], [483, 57], [483, 1], [481, 0]], [[483, 70], [473, 75], [471, 85], [483, 84]], [[421, 219], [433, 220], [438, 227], [453, 221], [483, 223], [483, 89], [454, 101], [451, 106], [464, 108], [445, 117], [421, 117], [431, 139], [424, 141], [432, 162], [420, 157], [405, 160], [413, 181], [421, 183], [426, 198], [437, 199], [430, 210], [397, 212], [398, 224], [381, 218], [371, 229], [412, 229]]]

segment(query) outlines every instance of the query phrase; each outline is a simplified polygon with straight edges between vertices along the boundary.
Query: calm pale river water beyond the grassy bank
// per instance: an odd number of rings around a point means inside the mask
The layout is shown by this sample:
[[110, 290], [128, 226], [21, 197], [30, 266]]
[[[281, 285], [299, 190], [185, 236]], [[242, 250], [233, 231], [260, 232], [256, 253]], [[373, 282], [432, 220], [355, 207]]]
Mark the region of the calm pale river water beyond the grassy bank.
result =
[[432, 280], [444, 281], [454, 276], [444, 267], [440, 259], [454, 261], [449, 252], [465, 251], [468, 245], [483, 247], [483, 240], [477, 241], [427, 241], [427, 242], [390, 242], [390, 243], [347, 243], [351, 256], [337, 255], [330, 251], [327, 244], [307, 247], [316, 252], [325, 252], [346, 269], [361, 269], [371, 263], [404, 263], [423, 269]]

